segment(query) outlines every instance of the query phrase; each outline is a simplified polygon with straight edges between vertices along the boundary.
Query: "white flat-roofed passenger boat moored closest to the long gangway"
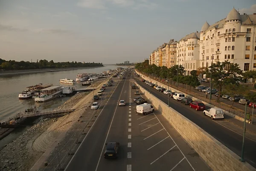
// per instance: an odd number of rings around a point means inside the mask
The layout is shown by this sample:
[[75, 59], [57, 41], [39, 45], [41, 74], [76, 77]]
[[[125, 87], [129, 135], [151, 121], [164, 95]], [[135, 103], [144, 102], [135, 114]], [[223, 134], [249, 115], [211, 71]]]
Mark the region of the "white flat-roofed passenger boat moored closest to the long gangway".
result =
[[35, 97], [36, 102], [44, 102], [59, 97], [62, 94], [62, 86], [52, 86], [40, 90], [40, 96]]

